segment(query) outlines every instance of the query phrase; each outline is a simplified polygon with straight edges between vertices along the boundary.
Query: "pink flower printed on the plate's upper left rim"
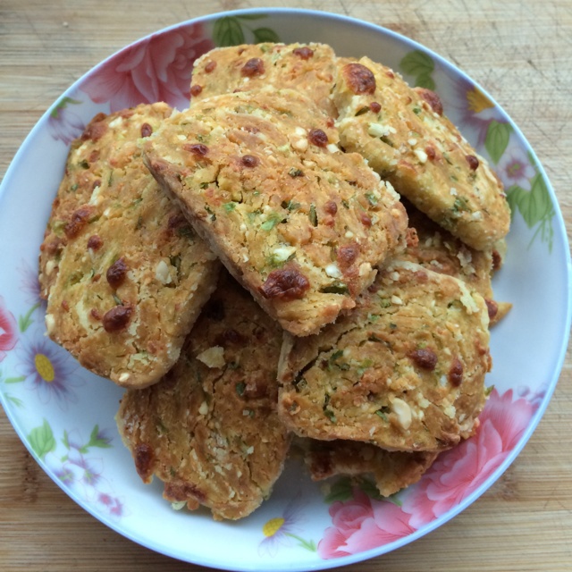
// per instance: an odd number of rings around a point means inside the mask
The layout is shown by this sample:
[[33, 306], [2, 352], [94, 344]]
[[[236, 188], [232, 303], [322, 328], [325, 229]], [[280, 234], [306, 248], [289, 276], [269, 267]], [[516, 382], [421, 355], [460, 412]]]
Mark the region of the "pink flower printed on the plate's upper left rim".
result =
[[188, 106], [192, 63], [213, 47], [198, 23], [155, 34], [107, 60], [81, 89], [95, 103], [109, 101], [111, 112], [157, 101]]

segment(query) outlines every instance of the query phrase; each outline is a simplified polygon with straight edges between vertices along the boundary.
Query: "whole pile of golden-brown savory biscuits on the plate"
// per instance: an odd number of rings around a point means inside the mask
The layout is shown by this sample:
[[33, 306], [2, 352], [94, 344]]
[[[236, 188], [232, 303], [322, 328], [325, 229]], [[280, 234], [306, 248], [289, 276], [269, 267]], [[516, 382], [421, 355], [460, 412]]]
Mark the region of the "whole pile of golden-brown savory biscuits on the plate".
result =
[[486, 400], [501, 181], [435, 93], [324, 44], [214, 49], [190, 94], [72, 143], [48, 335], [126, 388], [122, 439], [173, 506], [246, 517], [293, 451], [415, 483]]

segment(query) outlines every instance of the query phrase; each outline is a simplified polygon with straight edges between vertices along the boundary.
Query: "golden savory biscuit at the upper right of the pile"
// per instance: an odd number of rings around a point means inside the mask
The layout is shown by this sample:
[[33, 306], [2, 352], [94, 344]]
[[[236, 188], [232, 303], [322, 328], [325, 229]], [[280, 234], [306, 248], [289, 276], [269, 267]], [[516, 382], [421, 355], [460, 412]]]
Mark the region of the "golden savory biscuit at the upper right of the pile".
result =
[[363, 57], [341, 63], [332, 97], [342, 147], [365, 156], [419, 210], [478, 250], [506, 236], [501, 181], [443, 115], [433, 91], [409, 88]]

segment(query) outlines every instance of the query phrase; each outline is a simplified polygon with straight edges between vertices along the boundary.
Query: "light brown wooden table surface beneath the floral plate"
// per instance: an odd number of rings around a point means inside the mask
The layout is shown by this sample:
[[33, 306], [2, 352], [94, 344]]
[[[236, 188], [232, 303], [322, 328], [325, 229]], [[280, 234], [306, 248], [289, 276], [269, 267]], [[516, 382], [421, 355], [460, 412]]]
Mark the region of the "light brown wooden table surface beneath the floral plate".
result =
[[[2, 0], [0, 175], [46, 108], [105, 56], [178, 21], [228, 9], [286, 4], [381, 24], [467, 71], [524, 131], [556, 189], [570, 233], [570, 0]], [[568, 352], [543, 421], [497, 484], [460, 516], [416, 543], [343, 569], [571, 570], [571, 411]], [[4, 412], [0, 458], [1, 570], [205, 569], [148, 551], [90, 517], [40, 470]]]

